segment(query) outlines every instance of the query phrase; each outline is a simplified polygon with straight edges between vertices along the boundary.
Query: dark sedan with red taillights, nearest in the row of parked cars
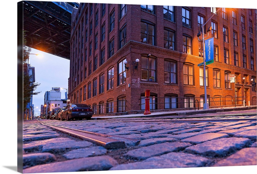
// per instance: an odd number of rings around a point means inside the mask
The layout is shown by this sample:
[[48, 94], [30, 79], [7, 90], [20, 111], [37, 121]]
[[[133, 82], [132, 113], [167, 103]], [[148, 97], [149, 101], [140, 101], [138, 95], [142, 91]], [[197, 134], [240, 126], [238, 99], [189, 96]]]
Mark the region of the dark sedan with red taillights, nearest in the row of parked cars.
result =
[[90, 120], [92, 116], [92, 109], [86, 104], [82, 103], [71, 103], [67, 105], [65, 110], [62, 112], [62, 119], [66, 119], [67, 121], [71, 119], [82, 120], [83, 118]]

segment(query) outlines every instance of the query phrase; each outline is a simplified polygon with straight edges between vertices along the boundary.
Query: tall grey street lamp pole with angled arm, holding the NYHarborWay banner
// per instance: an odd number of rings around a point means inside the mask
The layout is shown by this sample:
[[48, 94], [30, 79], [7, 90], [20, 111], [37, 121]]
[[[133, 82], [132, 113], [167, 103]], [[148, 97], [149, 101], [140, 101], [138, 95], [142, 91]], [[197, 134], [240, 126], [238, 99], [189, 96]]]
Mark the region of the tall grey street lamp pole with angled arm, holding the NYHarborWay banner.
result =
[[[221, 8], [219, 8], [213, 15], [212, 17], [220, 10]], [[206, 72], [205, 72], [205, 65], [206, 65], [206, 62], [205, 62], [205, 44], [204, 44], [204, 39], [206, 39], [208, 36], [209, 36], [209, 31], [212, 30], [212, 27], [210, 27], [207, 32], [208, 32], [208, 35], [206, 38], [204, 38], [204, 26], [206, 25], [206, 23], [212, 18], [210, 17], [203, 25], [202, 25], [202, 32], [199, 31], [199, 33], [197, 34], [197, 37], [198, 37], [198, 40], [200, 41], [199, 37], [201, 36], [202, 34], [202, 41], [203, 41], [203, 52], [204, 52], [204, 108], [203, 109], [209, 109], [209, 103], [207, 103], [207, 92], [206, 92]]]

